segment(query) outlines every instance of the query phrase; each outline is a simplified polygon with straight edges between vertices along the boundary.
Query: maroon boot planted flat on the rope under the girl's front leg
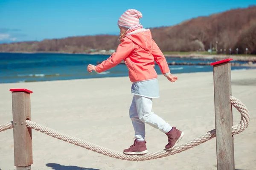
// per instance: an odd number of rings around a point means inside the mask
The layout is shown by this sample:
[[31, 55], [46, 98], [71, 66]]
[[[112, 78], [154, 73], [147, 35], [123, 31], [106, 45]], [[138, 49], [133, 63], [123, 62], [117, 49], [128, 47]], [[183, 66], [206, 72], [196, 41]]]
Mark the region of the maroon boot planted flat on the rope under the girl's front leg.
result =
[[134, 144], [131, 145], [129, 149], [125, 149], [123, 153], [128, 155], [148, 153], [145, 143], [146, 141], [138, 141], [137, 139], [135, 139]]

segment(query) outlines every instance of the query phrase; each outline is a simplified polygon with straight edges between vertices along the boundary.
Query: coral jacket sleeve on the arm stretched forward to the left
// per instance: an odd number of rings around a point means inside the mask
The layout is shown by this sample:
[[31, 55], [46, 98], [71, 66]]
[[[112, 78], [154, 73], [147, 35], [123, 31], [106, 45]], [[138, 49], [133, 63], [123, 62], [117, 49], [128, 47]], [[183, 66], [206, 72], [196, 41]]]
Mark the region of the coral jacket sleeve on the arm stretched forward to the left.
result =
[[124, 38], [123, 41], [118, 45], [116, 52], [114, 52], [111, 57], [96, 65], [96, 72], [101, 73], [106, 71], [110, 68], [115, 67], [118, 65], [123, 59], [128, 57], [128, 55], [133, 50], [133, 42], [128, 39]]

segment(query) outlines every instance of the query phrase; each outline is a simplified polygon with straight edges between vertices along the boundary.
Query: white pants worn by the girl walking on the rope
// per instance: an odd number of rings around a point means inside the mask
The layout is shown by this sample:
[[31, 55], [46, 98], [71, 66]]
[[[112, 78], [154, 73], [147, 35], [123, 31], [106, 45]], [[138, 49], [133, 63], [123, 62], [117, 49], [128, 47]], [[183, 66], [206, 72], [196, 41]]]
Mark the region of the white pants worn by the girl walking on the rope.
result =
[[134, 95], [130, 107], [130, 118], [135, 131], [135, 138], [145, 139], [145, 123], [168, 133], [172, 127], [152, 110], [152, 98]]

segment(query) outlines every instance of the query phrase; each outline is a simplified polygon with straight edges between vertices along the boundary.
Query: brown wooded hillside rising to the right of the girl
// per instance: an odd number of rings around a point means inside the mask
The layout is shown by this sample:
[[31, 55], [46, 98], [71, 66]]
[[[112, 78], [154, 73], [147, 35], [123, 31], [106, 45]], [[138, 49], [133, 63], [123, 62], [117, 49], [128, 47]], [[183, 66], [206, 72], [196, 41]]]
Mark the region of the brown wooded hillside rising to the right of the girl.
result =
[[[221, 52], [220, 49], [224, 51], [231, 48], [232, 53], [235, 53], [241, 34], [254, 23], [256, 6], [250, 6], [209, 17], [193, 18], [172, 27], [153, 28], [152, 36], [163, 51], [204, 51], [212, 43], [212, 47], [217, 47], [218, 52]], [[245, 53], [241, 50], [238, 52]], [[255, 53], [251, 51], [251, 54]]]

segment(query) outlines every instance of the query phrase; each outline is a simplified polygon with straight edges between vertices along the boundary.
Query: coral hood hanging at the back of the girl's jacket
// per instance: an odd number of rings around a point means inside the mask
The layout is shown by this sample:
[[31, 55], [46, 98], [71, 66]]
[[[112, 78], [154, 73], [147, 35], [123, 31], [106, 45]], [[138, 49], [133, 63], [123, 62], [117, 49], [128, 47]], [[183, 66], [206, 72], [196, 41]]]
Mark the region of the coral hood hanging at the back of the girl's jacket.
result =
[[139, 45], [145, 51], [149, 51], [152, 47], [152, 36], [149, 29], [141, 28], [125, 35], [128, 39]]

